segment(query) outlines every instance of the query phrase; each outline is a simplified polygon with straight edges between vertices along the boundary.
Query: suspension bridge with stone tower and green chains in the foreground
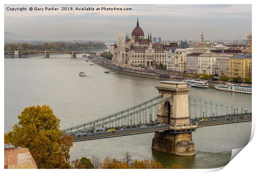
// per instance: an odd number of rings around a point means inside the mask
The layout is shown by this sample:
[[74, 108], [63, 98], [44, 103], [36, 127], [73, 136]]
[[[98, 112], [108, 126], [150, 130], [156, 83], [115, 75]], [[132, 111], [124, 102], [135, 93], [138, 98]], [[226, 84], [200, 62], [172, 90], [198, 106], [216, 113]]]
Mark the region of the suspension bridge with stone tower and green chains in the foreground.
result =
[[[73, 135], [73, 142], [155, 132], [152, 148], [175, 155], [194, 155], [191, 132], [196, 128], [251, 121], [251, 108], [188, 95], [191, 89], [184, 82], [160, 83], [156, 87], [157, 97], [62, 131]], [[93, 132], [95, 129], [104, 130]]]

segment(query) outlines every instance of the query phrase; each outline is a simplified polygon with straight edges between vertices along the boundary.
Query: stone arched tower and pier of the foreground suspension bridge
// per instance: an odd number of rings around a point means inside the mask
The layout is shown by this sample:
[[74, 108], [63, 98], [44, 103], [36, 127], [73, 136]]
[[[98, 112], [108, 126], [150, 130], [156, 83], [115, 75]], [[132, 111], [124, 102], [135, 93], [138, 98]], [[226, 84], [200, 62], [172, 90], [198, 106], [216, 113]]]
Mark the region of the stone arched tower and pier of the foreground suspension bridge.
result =
[[159, 106], [157, 122], [170, 125], [170, 130], [155, 132], [152, 149], [173, 155], [195, 155], [195, 144], [192, 142], [192, 131], [197, 128], [190, 124], [188, 111], [187, 83], [178, 81], [161, 81], [156, 86], [162, 99], [173, 96], [172, 99]]

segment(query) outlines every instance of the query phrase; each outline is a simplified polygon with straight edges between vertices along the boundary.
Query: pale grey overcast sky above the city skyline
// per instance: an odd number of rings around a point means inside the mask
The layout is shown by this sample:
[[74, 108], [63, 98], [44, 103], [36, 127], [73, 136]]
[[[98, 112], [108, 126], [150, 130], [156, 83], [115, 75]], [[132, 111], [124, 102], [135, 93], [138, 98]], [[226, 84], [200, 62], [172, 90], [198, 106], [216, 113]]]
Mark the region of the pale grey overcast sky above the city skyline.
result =
[[[132, 11], [24, 11], [7, 7], [128, 7]], [[5, 31], [49, 40], [86, 39], [97, 35], [118, 38], [119, 28], [129, 36], [137, 15], [145, 35], [164, 40], [245, 39], [251, 32], [251, 5], [5, 5]], [[241, 37], [240, 37], [241, 35]], [[99, 39], [96, 38], [95, 40]]]

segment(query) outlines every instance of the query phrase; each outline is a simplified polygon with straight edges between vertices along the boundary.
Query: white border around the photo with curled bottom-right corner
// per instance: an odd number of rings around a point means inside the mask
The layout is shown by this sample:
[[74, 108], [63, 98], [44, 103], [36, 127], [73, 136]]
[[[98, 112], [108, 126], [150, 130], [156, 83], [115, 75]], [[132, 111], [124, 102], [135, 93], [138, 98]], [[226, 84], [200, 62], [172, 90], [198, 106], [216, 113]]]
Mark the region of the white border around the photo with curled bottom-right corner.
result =
[[[1, 4], [1, 10], [2, 10], [2, 17], [1, 17], [1, 23], [4, 24], [4, 4], [253, 4], [252, 5], [252, 17], [254, 18], [254, 10], [255, 10], [255, 1], [254, 0], [243, 0], [243, 1], [238, 1], [238, 0], [214, 0], [214, 1], [205, 1], [205, 0], [183, 0], [183, 1], [177, 1], [177, 0], [157, 0], [157, 1], [153, 1], [153, 0], [147, 0], [147, 1], [137, 1], [137, 0], [126, 0], [126, 1], [120, 1], [120, 0], [90, 0], [90, 1], [86, 1], [86, 0], [72, 0], [72, 1], [63, 1], [63, 0], [3, 0], [3, 3]], [[252, 32], [255, 31], [255, 22], [253, 22], [254, 20], [252, 20]], [[1, 49], [1, 53], [3, 55], [3, 47], [4, 47], [4, 25], [2, 25], [1, 27], [1, 37], [2, 37], [2, 49]], [[256, 32], [253, 32], [256, 33]], [[254, 37], [255, 38], [255, 37]], [[255, 43], [255, 39], [253, 38], [253, 43]], [[253, 49], [253, 54], [256, 55], [256, 51], [255, 49]], [[254, 58], [253, 58], [254, 61]], [[1, 67], [0, 67], [0, 78], [1, 81], [4, 81], [4, 58], [1, 58], [1, 63], [0, 63]], [[255, 65], [253, 64], [253, 69], [255, 70]], [[255, 73], [253, 70], [253, 81], [255, 79]], [[254, 83], [254, 82], [253, 82]], [[253, 84], [254, 85], [254, 84]], [[2, 115], [2, 121], [1, 121], [1, 132], [2, 134], [4, 133], [4, 84], [2, 82], [1, 87], [1, 105], [0, 105], [0, 111], [1, 111], [1, 115]], [[253, 91], [254, 93], [254, 91]], [[252, 95], [252, 102], [256, 103], [255, 101], [255, 97], [254, 95]], [[254, 112], [254, 109], [253, 109]], [[255, 116], [255, 115], [253, 115]], [[249, 142], [249, 144], [247, 146], [245, 146], [242, 149], [242, 152], [239, 152], [239, 154], [234, 157], [230, 163], [225, 166], [225, 168], [216, 168], [216, 169], [183, 169], [183, 170], [161, 170], [161, 171], [172, 171], [172, 172], [187, 172], [189, 171], [190, 173], [199, 173], [199, 172], [213, 172], [213, 171], [218, 171], [219, 172], [252, 172], [252, 170], [255, 170], [254, 165], [255, 165], [255, 161], [254, 161], [254, 156], [256, 154], [255, 152], [255, 148], [254, 146], [256, 146], [256, 142], [255, 142], [255, 138], [252, 138], [254, 135], [254, 131], [255, 131], [255, 118], [253, 118], [253, 122], [252, 122], [252, 133], [251, 133], [251, 141]], [[238, 139], [239, 140], [239, 139]], [[3, 143], [3, 138], [1, 138], [1, 141]], [[1, 150], [1, 164], [2, 164], [2, 169], [4, 168], [4, 150]], [[21, 171], [21, 172], [34, 172], [35, 170], [6, 170], [3, 169], [3, 171], [6, 172], [14, 172], [14, 171]], [[43, 171], [45, 172], [45, 170], [36, 170], [36, 171]], [[104, 172], [104, 173], [108, 173], [108, 172], [129, 172], [129, 171], [133, 171], [133, 170], [51, 170], [51, 171], [57, 171], [57, 172], [84, 172], [84, 171], [90, 171], [90, 172]], [[140, 171], [140, 172], [148, 172], [149, 170], [136, 170], [136, 171]], [[151, 171], [151, 170], [150, 170]], [[156, 171], [156, 170], [152, 170], [152, 171]]]

